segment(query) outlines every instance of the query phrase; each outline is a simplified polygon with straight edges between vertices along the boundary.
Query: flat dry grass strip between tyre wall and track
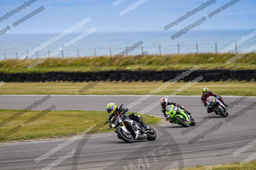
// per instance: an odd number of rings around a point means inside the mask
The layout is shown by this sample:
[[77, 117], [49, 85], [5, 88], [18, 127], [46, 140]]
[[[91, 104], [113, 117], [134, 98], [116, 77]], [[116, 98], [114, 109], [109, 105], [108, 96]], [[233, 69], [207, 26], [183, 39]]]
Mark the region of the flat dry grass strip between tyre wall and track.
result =
[[[166, 89], [157, 92], [156, 95], [170, 95], [188, 82], [173, 83]], [[145, 95], [155, 90], [164, 82], [100, 82], [88, 91], [78, 91], [89, 82], [45, 82], [45, 83], [5, 83], [0, 87], [0, 94], [81, 94], [81, 95]], [[211, 91], [220, 95], [242, 96], [252, 92], [256, 96], [256, 82], [220, 81], [200, 82], [192, 85], [178, 95], [201, 95], [202, 88], [208, 87]]]

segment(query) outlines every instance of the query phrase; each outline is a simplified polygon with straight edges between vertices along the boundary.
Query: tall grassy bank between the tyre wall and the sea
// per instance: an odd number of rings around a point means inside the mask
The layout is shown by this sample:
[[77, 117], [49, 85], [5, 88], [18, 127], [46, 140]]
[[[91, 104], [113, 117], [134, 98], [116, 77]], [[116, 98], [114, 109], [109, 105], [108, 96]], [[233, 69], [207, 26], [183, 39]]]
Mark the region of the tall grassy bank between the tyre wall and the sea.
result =
[[[235, 54], [184, 54], [184, 55], [146, 55], [134, 63], [128, 64], [123, 70], [186, 70], [198, 66], [198, 70], [209, 69], [231, 69], [231, 70], [255, 70], [256, 53], [245, 54], [243, 57], [231, 64], [226, 61]], [[124, 66], [136, 56], [123, 56], [110, 64], [99, 69], [116, 70], [119, 66]], [[72, 71], [86, 72], [92, 70], [95, 66], [109, 60], [109, 56], [100, 57], [73, 57], [73, 58], [49, 58], [40, 63], [37, 67], [28, 70], [29, 64], [36, 59], [19, 60], [10, 59], [0, 61], [0, 72], [17, 73], [17, 72], [49, 72], [49, 71]]]

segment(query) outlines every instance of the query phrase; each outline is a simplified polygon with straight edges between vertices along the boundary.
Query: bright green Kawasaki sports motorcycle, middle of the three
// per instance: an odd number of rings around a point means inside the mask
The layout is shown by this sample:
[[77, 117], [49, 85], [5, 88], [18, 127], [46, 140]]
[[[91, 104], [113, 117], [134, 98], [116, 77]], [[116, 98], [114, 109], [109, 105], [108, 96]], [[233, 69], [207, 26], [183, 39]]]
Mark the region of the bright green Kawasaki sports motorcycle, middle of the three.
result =
[[174, 105], [167, 105], [165, 112], [170, 123], [176, 123], [181, 126], [188, 127], [196, 124], [195, 119], [190, 117], [183, 109]]

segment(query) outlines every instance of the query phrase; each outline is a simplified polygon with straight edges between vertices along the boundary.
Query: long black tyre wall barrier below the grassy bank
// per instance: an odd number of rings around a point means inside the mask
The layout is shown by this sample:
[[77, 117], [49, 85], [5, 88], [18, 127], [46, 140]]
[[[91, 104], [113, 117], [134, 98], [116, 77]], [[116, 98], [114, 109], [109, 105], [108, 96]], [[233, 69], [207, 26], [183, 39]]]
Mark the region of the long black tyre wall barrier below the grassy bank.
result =
[[[47, 73], [0, 73], [0, 81], [4, 82], [49, 82], [49, 81], [169, 81], [186, 70], [164, 71], [97, 71], [97, 72], [47, 72]], [[203, 76], [201, 81], [256, 81], [256, 70], [195, 70], [180, 79], [185, 82]], [[180, 81], [179, 80], [179, 81]]]

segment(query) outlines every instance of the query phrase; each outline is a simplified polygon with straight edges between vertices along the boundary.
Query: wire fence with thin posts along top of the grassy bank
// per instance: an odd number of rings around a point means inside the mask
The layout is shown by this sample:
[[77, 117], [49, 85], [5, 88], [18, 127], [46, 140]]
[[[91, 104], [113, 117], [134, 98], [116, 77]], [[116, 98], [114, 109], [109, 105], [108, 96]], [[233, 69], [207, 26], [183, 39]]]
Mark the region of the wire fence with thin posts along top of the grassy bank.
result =
[[[207, 47], [207, 48], [206, 48]], [[225, 46], [224, 46], [225, 47]], [[91, 57], [97, 57], [97, 56], [114, 56], [118, 53], [120, 53], [121, 51], [123, 51], [125, 48], [104, 48], [104, 47], [100, 47], [100, 48], [87, 48], [87, 49], [74, 49], [74, 50], [62, 50], [61, 53], [58, 54], [58, 56], [55, 57], [84, 57], [84, 56], [91, 56]], [[207, 51], [205, 51], [205, 49], [208, 49]], [[147, 50], [149, 55], [168, 55], [168, 54], [184, 54], [184, 51], [187, 51], [187, 53], [195, 53], [195, 54], [200, 54], [200, 53], [205, 53], [205, 52], [211, 52], [211, 53], [218, 53], [218, 50], [222, 50], [223, 49], [223, 45], [221, 45], [221, 47], [218, 47], [218, 44], [177, 44], [177, 45], [172, 45], [172, 46], [155, 46], [155, 47], [151, 47], [151, 48], [147, 48], [144, 46], [140, 46], [138, 48], [135, 48], [134, 51], [129, 52], [129, 55], [138, 55], [140, 53], [143, 53], [144, 51]], [[201, 51], [200, 51], [201, 50]], [[219, 51], [220, 51], [219, 50]], [[190, 51], [190, 52], [188, 52]], [[28, 54], [29, 51], [27, 51]], [[50, 54], [50, 50], [41, 50], [41, 51], [37, 51], [34, 55], [28, 56], [27, 55], [27, 59], [28, 58], [40, 58], [42, 56], [48, 55]], [[230, 53], [234, 53], [237, 54], [239, 51], [237, 49], [237, 45], [236, 47], [229, 51]], [[6, 52], [4, 52], [4, 56], [2, 57], [4, 60], [6, 59], [20, 59], [20, 56], [24, 55], [23, 53], [18, 53], [17, 51], [14, 53], [15, 56], [13, 56], [13, 54], [9, 53], [8, 55], [6, 55]], [[185, 53], [186, 54], [186, 53]], [[128, 54], [126, 54], [128, 55]]]

